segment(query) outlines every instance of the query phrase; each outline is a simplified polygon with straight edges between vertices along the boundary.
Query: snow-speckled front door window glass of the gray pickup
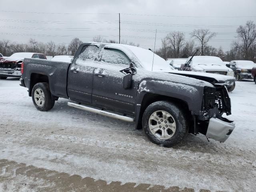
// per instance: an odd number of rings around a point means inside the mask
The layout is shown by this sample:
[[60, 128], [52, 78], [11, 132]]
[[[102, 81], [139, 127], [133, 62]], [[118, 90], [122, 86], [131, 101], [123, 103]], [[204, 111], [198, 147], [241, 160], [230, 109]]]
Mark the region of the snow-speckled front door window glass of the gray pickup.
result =
[[117, 66], [127, 67], [131, 60], [124, 54], [124, 52], [117, 49], [104, 48], [101, 60]]

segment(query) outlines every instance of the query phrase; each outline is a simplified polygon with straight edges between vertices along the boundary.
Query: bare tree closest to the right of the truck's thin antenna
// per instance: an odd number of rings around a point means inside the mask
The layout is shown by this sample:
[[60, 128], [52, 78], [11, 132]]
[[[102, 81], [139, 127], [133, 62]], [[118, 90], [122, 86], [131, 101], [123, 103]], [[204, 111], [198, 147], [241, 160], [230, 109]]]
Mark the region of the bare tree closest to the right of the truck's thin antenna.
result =
[[182, 32], [172, 32], [166, 36], [168, 44], [170, 44], [170, 49], [172, 50], [173, 57], [179, 58], [181, 48], [185, 44], [185, 35]]

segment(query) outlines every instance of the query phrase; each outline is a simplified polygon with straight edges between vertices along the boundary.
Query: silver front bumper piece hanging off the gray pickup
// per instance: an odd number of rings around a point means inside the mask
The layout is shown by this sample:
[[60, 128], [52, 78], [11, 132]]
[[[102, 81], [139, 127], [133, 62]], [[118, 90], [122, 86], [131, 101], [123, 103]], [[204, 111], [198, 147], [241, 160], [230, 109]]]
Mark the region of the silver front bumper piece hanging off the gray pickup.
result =
[[223, 118], [210, 118], [206, 137], [225, 142], [235, 128], [235, 123]]

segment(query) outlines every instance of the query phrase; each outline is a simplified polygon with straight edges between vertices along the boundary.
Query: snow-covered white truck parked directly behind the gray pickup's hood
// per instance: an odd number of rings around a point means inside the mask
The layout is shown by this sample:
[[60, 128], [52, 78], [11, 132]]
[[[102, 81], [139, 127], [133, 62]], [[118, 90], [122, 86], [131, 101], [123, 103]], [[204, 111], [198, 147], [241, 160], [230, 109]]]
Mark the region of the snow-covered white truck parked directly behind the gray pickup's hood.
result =
[[[190, 60], [190, 58], [192, 59]], [[228, 68], [227, 66], [224, 66], [223, 61], [218, 57], [214, 57], [214, 56], [189, 57], [186, 61], [186, 64], [181, 66], [181, 68], [185, 71], [205, 72], [207, 74], [220, 74], [220, 75], [234, 77], [233, 70]], [[229, 83], [230, 84], [227, 84], [226, 87], [228, 91], [231, 92], [236, 87], [236, 83], [235, 81], [232, 81]]]

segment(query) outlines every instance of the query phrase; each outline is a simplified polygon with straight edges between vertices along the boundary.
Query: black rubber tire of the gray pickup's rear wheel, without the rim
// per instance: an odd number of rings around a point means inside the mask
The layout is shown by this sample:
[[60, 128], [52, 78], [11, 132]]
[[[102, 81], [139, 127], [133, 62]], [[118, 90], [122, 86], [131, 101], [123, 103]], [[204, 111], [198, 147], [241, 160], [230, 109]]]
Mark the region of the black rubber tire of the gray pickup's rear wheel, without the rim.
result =
[[[34, 97], [35, 92], [38, 89], [42, 90], [42, 92], [44, 94], [44, 104], [42, 104], [42, 106], [39, 106], [36, 103], [36, 100], [35, 100], [35, 97]], [[49, 84], [48, 83], [37, 83], [37, 84], [35, 84], [33, 89], [32, 89], [32, 100], [33, 100], [34, 106], [38, 110], [40, 110], [40, 111], [50, 110], [54, 106], [55, 100], [52, 100], [52, 94], [50, 92]]]

